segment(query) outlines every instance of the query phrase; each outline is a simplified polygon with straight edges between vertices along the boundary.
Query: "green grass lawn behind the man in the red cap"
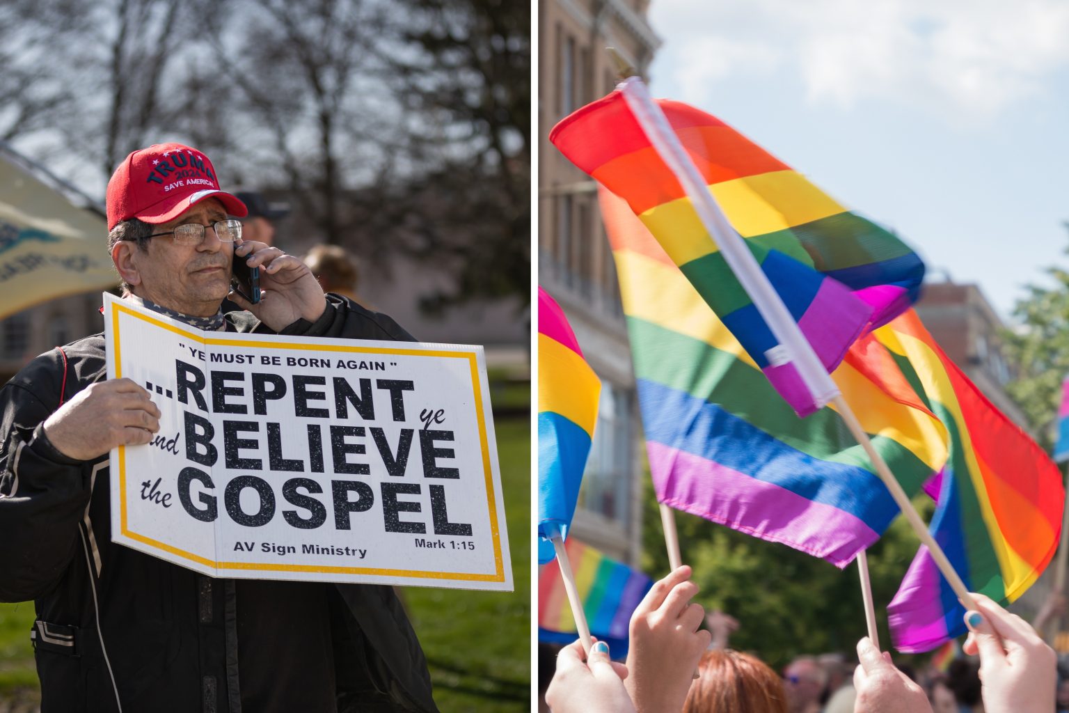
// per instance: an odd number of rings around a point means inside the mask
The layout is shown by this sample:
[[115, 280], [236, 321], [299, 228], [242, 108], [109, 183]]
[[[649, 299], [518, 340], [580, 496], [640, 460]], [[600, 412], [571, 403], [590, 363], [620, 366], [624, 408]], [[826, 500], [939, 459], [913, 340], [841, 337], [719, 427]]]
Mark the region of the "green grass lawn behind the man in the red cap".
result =
[[[514, 591], [403, 590], [443, 713], [530, 707], [530, 418], [494, 425]], [[32, 602], [0, 604], [0, 703], [40, 700], [32, 624]]]

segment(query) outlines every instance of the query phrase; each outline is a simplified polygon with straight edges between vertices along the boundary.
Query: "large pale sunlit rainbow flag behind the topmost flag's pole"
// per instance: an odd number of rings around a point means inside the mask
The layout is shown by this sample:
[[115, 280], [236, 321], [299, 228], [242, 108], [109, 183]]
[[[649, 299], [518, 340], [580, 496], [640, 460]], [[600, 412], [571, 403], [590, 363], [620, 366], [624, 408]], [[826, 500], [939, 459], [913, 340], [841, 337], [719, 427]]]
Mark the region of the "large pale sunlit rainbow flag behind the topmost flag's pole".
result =
[[[846, 567], [898, 507], [842, 417], [797, 418], [626, 203], [603, 189], [601, 205], [657, 499]], [[881, 358], [883, 375], [858, 368]], [[832, 376], [913, 494], [946, 462], [947, 434], [896, 374], [864, 342]]]

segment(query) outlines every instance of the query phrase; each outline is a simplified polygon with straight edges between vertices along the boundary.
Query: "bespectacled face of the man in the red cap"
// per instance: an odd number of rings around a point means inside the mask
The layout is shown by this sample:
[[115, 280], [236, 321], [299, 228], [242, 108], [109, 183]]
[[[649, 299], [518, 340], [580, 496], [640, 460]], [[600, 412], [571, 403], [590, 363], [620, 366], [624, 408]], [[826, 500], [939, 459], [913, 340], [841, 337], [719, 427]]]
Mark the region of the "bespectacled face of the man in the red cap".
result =
[[[190, 222], [211, 226], [226, 217], [222, 203], [210, 198], [174, 220], [154, 226], [153, 233], [166, 233]], [[169, 236], [153, 237], [148, 250], [135, 249], [130, 253], [140, 279], [131, 283], [134, 294], [184, 314], [211, 316], [230, 292], [233, 252], [234, 244], [219, 242], [213, 228], [205, 230], [200, 245], [179, 245]]]

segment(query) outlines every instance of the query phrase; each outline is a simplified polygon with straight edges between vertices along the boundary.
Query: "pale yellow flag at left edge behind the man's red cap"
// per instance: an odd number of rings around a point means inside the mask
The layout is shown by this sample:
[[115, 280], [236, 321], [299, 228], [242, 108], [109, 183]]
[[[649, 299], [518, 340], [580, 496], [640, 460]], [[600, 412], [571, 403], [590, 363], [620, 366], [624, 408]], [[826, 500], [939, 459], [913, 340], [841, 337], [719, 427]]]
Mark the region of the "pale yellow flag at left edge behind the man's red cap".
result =
[[104, 218], [0, 154], [0, 319], [119, 282]]

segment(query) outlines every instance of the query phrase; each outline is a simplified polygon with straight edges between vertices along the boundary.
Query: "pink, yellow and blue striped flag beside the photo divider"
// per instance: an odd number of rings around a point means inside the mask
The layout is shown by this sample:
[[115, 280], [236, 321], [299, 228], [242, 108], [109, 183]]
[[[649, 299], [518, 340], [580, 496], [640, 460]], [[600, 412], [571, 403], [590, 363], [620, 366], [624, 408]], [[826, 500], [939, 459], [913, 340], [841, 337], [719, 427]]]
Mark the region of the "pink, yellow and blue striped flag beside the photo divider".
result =
[[583, 358], [564, 311], [538, 289], [538, 559], [568, 536], [598, 422], [601, 381]]

